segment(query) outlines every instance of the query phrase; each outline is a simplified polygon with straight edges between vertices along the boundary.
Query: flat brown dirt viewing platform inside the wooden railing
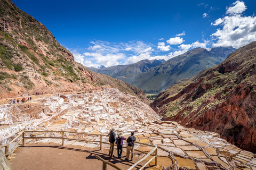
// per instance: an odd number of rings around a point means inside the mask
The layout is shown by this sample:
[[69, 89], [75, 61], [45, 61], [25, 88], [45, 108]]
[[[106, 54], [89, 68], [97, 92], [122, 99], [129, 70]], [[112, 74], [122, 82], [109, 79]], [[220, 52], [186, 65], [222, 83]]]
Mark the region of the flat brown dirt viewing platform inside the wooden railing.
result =
[[[126, 153], [123, 152], [122, 158], [115, 156], [110, 158], [108, 150], [91, 149], [80, 146], [60, 146], [51, 144], [33, 144], [19, 147], [10, 157], [10, 165], [13, 170], [21, 169], [102, 169], [102, 162], [95, 156], [108, 160], [109, 162], [123, 168], [128, 169], [140, 158], [134, 157], [133, 161], [125, 160]], [[147, 161], [141, 162], [133, 169], [139, 169]], [[115, 169], [108, 165], [108, 170]], [[148, 165], [145, 169], [156, 169], [154, 165]]]

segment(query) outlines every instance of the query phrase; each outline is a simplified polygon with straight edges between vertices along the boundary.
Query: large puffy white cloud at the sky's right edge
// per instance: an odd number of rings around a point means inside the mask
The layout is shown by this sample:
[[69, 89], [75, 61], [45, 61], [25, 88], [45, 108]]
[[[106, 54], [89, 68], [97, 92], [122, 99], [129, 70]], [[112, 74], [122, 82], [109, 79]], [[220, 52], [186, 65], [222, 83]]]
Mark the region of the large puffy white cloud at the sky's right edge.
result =
[[226, 16], [212, 23], [221, 27], [211, 35], [213, 40], [217, 40], [213, 47], [239, 48], [256, 40], [256, 16], [243, 16], [245, 10], [244, 2], [236, 1], [227, 7]]

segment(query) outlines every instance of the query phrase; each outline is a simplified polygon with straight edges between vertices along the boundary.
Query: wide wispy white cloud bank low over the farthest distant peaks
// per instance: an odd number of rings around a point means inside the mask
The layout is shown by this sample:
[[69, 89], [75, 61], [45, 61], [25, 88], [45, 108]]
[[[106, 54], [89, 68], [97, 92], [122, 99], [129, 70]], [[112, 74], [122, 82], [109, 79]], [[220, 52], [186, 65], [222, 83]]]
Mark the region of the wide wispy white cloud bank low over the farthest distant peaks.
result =
[[99, 65], [113, 66], [124, 63], [134, 63], [143, 59], [164, 58], [166, 56], [151, 56], [154, 49], [152, 44], [143, 41], [129, 41], [128, 43], [110, 43], [108, 41], [91, 41], [87, 52], [81, 54], [70, 50], [75, 61], [87, 67]]

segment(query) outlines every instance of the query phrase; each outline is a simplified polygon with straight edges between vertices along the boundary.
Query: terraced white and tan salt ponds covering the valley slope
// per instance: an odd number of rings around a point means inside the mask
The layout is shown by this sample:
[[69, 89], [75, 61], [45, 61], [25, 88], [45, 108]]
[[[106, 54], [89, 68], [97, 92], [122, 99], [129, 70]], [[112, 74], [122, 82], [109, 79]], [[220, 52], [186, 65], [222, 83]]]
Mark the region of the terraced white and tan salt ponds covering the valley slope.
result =
[[[128, 138], [133, 131], [137, 141], [157, 145], [158, 164], [163, 167], [189, 169], [248, 168], [256, 170], [256, 159], [252, 152], [231, 145], [219, 138], [217, 133], [187, 129], [177, 122], [160, 121], [158, 115], [149, 106], [116, 89], [67, 97], [68, 102], [66, 103], [59, 101], [57, 97], [45, 99], [45, 106], [49, 112], [54, 114], [47, 119], [42, 117], [39, 123], [31, 126], [31, 128], [108, 134], [109, 129], [115, 127], [116, 133], [123, 132], [125, 138]], [[49, 104], [54, 102], [55, 105]], [[59, 104], [57, 105], [57, 103]], [[58, 108], [60, 109], [59, 112]], [[44, 133], [31, 135], [45, 136]], [[53, 133], [53, 135], [57, 137], [61, 134]], [[100, 139], [93, 135], [70, 133], [67, 134], [66, 138], [90, 139], [94, 142], [84, 143], [67, 140], [65, 145], [99, 148], [98, 141]], [[102, 140], [107, 142], [108, 138], [103, 137]], [[44, 139], [26, 140], [26, 142], [61, 143], [62, 140]], [[109, 145], [102, 145], [102, 147], [108, 149]], [[152, 148], [137, 143], [135, 149], [150, 151]], [[124, 149], [124, 151], [126, 150]], [[137, 152], [136, 155], [142, 157], [144, 154]]]

